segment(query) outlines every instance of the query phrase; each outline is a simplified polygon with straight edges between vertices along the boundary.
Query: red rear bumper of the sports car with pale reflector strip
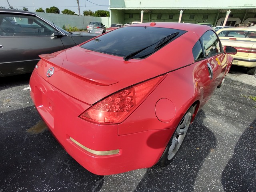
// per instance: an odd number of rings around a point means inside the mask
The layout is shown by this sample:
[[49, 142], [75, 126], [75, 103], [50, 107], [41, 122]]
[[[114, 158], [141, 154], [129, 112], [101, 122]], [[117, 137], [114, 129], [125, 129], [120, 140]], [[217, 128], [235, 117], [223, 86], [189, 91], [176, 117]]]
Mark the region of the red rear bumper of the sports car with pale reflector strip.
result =
[[31, 97], [63, 148], [79, 164], [98, 175], [149, 168], [160, 159], [173, 129], [118, 135], [118, 125], [79, 118], [90, 105], [58, 90], [37, 72], [30, 79]]

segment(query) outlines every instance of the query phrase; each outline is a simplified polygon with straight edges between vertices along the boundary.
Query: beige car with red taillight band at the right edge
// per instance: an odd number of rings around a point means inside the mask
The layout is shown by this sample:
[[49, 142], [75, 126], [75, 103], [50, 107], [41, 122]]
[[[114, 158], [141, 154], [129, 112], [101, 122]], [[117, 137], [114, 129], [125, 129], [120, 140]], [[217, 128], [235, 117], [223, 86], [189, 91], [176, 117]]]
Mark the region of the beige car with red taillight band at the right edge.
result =
[[224, 28], [216, 32], [223, 46], [237, 49], [233, 65], [247, 67], [247, 74], [256, 74], [256, 28]]

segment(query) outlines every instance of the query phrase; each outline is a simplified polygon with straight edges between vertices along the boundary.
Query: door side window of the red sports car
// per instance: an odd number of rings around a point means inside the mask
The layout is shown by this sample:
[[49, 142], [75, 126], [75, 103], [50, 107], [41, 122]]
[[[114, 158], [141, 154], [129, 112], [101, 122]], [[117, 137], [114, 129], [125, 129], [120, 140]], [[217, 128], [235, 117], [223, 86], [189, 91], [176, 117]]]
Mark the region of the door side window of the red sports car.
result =
[[220, 40], [212, 30], [205, 32], [201, 39], [204, 44], [206, 57], [222, 52]]

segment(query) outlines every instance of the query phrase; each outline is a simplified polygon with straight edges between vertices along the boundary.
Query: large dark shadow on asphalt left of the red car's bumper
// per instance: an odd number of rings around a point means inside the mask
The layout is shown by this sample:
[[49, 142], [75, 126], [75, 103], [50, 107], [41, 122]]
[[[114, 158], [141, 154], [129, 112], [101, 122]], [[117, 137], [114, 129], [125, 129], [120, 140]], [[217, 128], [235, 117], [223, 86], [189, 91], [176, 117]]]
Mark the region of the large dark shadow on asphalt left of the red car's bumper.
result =
[[95, 191], [103, 183], [45, 129], [34, 106], [0, 113], [0, 192]]

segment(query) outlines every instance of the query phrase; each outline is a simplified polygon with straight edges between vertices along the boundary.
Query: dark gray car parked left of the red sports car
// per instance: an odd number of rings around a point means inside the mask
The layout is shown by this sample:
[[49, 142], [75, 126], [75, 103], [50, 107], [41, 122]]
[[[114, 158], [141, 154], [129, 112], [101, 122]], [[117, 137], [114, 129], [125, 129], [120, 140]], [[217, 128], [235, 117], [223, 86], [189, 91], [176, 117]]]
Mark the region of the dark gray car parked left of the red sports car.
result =
[[38, 55], [70, 48], [97, 35], [72, 34], [32, 12], [0, 9], [0, 77], [32, 72]]

